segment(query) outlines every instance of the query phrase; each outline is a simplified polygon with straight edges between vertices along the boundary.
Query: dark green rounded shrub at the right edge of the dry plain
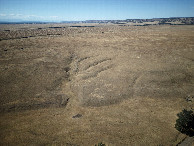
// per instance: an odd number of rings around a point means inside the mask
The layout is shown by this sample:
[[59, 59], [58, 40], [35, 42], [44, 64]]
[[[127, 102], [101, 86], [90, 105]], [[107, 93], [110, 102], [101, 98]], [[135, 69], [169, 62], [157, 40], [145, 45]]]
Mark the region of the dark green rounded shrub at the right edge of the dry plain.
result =
[[177, 114], [175, 128], [183, 134], [194, 136], [194, 113], [191, 110], [182, 110]]

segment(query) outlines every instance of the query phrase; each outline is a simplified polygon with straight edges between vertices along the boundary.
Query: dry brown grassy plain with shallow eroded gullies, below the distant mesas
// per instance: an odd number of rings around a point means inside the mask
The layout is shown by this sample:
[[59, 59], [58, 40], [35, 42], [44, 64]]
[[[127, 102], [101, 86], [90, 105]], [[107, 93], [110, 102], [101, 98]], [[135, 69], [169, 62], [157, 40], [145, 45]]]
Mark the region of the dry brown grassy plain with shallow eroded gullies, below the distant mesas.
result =
[[[78, 27], [75, 27], [78, 26]], [[0, 25], [0, 145], [176, 145], [194, 26]]]

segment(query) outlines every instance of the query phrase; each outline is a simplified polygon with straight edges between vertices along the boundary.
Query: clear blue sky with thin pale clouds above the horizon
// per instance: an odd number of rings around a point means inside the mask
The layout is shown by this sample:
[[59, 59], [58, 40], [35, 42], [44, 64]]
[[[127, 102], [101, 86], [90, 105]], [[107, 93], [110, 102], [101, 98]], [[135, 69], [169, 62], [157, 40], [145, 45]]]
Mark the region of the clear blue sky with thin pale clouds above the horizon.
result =
[[194, 0], [0, 0], [0, 20], [194, 17]]

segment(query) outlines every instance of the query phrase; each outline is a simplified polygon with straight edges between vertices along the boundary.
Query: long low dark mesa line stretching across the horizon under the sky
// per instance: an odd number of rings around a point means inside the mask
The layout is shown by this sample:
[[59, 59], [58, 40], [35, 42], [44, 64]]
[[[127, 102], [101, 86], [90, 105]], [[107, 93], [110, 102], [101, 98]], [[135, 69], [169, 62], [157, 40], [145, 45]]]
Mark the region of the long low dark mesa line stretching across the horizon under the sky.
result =
[[[41, 22], [41, 21], [0, 21], [0, 24], [52, 24], [59, 22]], [[152, 19], [126, 19], [126, 20], [85, 20], [85, 21], [61, 21], [60, 23], [99, 23], [99, 24], [129, 24], [138, 26], [148, 26], [148, 25], [194, 25], [194, 17], [170, 17], [170, 18], [152, 18]], [[141, 24], [141, 25], [140, 25]], [[71, 27], [95, 27], [95, 26], [71, 26]], [[49, 27], [49, 28], [64, 28], [64, 27]], [[42, 28], [38, 28], [42, 29]], [[6, 31], [6, 30], [5, 30]], [[9, 30], [7, 30], [9, 31]]]

